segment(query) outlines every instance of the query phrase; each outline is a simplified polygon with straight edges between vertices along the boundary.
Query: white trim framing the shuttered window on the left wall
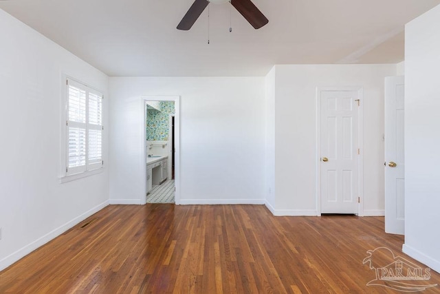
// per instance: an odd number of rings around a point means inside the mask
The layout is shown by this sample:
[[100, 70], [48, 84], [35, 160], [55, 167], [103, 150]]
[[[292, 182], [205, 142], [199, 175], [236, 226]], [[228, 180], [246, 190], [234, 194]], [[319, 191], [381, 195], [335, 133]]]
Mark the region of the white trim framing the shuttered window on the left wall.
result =
[[[76, 78], [72, 78], [71, 76], [67, 76], [67, 75], [63, 75], [62, 78], [62, 85], [63, 87], [61, 90], [61, 143], [60, 143], [60, 147], [61, 147], [61, 171], [60, 171], [60, 176], [59, 176], [59, 181], [61, 183], [63, 182], [70, 182], [72, 180], [77, 180], [80, 178], [85, 178], [87, 176], [92, 176], [95, 174], [100, 174], [104, 171], [104, 149], [106, 147], [104, 147], [104, 94], [103, 91], [97, 90], [95, 87], [91, 87], [90, 85], [88, 85], [87, 83], [83, 83], [82, 81], [79, 81]], [[87, 89], [87, 93], [91, 92], [93, 94], [98, 94], [100, 96], [102, 96], [102, 125], [99, 125], [100, 127], [102, 127], [102, 138], [101, 138], [101, 158], [102, 158], [102, 163], [98, 162], [98, 163], [88, 163], [89, 162], [89, 158], [88, 157], [88, 151], [86, 153], [86, 165], [85, 165], [85, 170], [80, 170], [78, 172], [74, 172], [74, 173], [68, 173], [67, 171], [67, 167], [69, 165], [68, 163], [68, 158], [69, 158], [69, 151], [68, 151], [68, 136], [69, 136], [69, 126], [68, 126], [68, 120], [69, 120], [69, 114], [68, 114], [68, 102], [69, 102], [69, 82], [73, 83], [74, 85], [80, 85], [81, 87], [85, 87]], [[87, 94], [87, 102], [86, 102], [86, 109], [87, 112], [88, 107], [89, 107], [89, 96]], [[91, 125], [91, 127], [89, 128], [89, 123], [88, 123], [88, 118], [86, 120], [86, 134], [89, 132], [89, 129], [96, 129], [96, 125]], [[100, 128], [101, 129], [101, 128]], [[88, 136], [88, 134], [86, 135]], [[88, 145], [88, 140], [86, 141], [86, 148], [89, 148]], [[71, 167], [70, 169], [76, 169], [75, 167]], [[77, 169], [78, 170], [78, 169]]]

